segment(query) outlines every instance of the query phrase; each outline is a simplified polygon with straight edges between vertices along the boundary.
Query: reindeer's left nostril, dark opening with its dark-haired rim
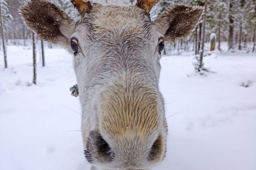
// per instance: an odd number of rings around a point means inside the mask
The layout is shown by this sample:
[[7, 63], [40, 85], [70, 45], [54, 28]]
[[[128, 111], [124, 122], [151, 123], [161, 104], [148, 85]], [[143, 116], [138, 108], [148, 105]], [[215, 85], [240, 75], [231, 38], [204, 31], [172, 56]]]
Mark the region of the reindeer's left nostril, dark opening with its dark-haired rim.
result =
[[102, 138], [100, 132], [96, 130], [89, 133], [86, 148], [85, 157], [91, 164], [95, 163], [95, 161], [110, 162], [112, 160], [113, 151]]

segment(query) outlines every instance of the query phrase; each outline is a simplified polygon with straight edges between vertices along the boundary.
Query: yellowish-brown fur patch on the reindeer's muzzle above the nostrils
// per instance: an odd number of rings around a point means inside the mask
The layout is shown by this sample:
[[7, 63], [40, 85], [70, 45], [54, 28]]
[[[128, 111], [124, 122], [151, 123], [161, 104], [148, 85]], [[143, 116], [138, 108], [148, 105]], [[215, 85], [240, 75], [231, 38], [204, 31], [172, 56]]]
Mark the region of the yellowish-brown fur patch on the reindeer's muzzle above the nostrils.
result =
[[100, 131], [110, 138], [132, 134], [147, 138], [158, 130], [157, 94], [153, 89], [116, 83], [102, 93], [102, 101]]

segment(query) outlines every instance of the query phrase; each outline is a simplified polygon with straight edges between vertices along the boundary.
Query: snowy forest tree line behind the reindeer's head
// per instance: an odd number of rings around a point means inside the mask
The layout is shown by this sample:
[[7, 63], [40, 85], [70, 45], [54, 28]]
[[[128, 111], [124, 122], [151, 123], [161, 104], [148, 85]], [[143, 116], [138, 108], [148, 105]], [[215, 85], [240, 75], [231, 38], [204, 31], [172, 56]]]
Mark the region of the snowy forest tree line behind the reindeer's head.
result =
[[[73, 8], [69, 0], [49, 0], [60, 6], [65, 13], [72, 19], [78, 20], [80, 16]], [[0, 0], [0, 36], [2, 41], [0, 49], [3, 49], [3, 56], [5, 68], [7, 64], [7, 51], [5, 42], [7, 39], [26, 40], [33, 39], [33, 47], [35, 46], [35, 37], [30, 30], [24, 26], [24, 23], [17, 12], [17, 9], [25, 0]], [[117, 4], [129, 5], [135, 3], [134, 0], [98, 0], [102, 4]], [[217, 43], [217, 49], [221, 51], [221, 43], [228, 42], [228, 49], [233, 52], [235, 49], [247, 51], [255, 51], [255, 32], [256, 32], [256, 0], [160, 0], [151, 10], [150, 16], [152, 20], [156, 19], [169, 6], [176, 4], [187, 4], [190, 6], [204, 7], [204, 14], [200, 23], [195, 28], [193, 34], [189, 39], [180, 40], [174, 43], [173, 46], [179, 47], [179, 43], [187, 43], [185, 45], [193, 45], [193, 51], [197, 58], [195, 68], [202, 69], [202, 58], [204, 52], [204, 42]], [[189, 42], [189, 44], [188, 44]], [[248, 43], [252, 44], [251, 49], [248, 49]], [[43, 41], [41, 42], [42, 61], [45, 66]], [[215, 46], [211, 46], [214, 50]], [[34, 49], [33, 49], [34, 50]], [[35, 58], [35, 53], [34, 56]], [[34, 60], [34, 62], [36, 62]], [[34, 66], [36, 63], [34, 63]], [[35, 70], [35, 69], [34, 69]], [[36, 72], [36, 70], [35, 70]], [[34, 81], [36, 83], [36, 81]]]

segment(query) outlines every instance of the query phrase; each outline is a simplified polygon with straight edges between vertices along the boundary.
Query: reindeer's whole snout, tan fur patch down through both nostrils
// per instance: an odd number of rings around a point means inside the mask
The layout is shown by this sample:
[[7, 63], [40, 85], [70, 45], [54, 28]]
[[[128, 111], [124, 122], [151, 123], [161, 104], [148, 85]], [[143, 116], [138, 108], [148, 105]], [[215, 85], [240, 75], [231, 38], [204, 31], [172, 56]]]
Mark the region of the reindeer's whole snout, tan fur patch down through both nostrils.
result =
[[99, 128], [89, 133], [85, 151], [99, 170], [144, 170], [164, 158], [166, 132], [160, 127], [165, 121], [159, 120], [158, 93], [147, 86], [129, 87], [117, 82], [101, 93]]

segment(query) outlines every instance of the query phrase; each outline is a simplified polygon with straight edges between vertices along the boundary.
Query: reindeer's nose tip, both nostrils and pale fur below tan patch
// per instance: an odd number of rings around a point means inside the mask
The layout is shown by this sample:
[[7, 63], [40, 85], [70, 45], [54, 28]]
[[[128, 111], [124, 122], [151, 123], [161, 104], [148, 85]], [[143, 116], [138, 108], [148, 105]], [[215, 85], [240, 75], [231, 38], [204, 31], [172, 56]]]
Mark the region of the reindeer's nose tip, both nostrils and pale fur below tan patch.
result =
[[145, 168], [141, 162], [154, 164], [161, 159], [161, 145], [163, 144], [161, 135], [153, 140], [152, 147], [145, 151], [141, 150], [143, 142], [129, 139], [121, 139], [120, 141], [126, 144], [115, 142], [116, 146], [119, 147], [111, 148], [99, 131], [91, 131], [87, 141], [87, 149], [85, 150], [87, 161], [91, 164], [104, 164], [104, 168]]

